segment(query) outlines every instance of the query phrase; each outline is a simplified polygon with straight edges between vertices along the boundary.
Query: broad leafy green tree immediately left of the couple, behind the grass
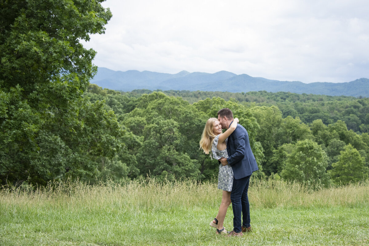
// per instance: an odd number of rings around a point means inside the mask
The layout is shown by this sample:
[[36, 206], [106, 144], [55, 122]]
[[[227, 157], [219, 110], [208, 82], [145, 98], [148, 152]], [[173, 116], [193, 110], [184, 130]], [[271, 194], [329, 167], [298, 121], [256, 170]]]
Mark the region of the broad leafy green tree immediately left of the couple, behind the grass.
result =
[[136, 157], [140, 175], [159, 179], [191, 177], [203, 179], [199, 140], [206, 116], [181, 98], [162, 92], [142, 95], [123, 123], [142, 145]]

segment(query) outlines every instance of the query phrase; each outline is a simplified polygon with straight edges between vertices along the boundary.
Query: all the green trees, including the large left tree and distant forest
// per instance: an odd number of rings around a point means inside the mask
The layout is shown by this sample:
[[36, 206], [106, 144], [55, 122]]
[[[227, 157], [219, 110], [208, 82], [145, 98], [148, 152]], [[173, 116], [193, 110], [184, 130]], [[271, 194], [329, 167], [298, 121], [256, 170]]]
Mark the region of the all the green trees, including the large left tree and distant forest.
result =
[[214, 179], [218, 162], [199, 140], [225, 107], [248, 130], [256, 178], [309, 185], [368, 178], [367, 98], [102, 89], [89, 83], [95, 52], [80, 43], [111, 18], [100, 1], [6, 1], [0, 16], [2, 185]]

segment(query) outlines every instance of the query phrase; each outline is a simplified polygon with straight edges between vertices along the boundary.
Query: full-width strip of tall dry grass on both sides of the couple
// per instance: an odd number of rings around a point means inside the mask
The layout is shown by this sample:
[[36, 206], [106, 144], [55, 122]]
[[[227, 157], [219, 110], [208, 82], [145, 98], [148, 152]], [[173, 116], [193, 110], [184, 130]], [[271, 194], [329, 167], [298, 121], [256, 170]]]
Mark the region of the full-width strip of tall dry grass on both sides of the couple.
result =
[[[186, 209], [192, 206], [217, 206], [221, 199], [215, 182], [158, 182], [156, 179], [126, 180], [88, 185], [78, 181], [50, 182], [45, 187], [3, 187], [2, 204], [23, 206], [85, 208], [124, 208], [127, 211]], [[275, 179], [252, 180], [249, 187], [252, 206], [327, 207], [331, 205], [369, 205], [369, 182], [346, 186], [310, 189], [297, 182]]]

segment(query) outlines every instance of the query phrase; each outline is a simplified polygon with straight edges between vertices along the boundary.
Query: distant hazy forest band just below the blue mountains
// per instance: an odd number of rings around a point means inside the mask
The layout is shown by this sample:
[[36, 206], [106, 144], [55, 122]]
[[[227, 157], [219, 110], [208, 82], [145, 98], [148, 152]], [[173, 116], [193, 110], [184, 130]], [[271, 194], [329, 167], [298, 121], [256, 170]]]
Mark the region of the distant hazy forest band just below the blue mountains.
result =
[[[161, 90], [156, 90], [161, 91]], [[140, 89], [122, 92], [129, 97], [149, 94], [153, 91]], [[353, 96], [327, 96], [314, 94], [296, 94], [291, 92], [220, 92], [220, 91], [161, 91], [168, 96], [181, 97], [190, 103], [206, 98], [220, 97], [225, 101], [231, 98], [246, 107], [277, 106], [282, 116], [299, 117], [305, 124], [321, 119], [324, 124], [332, 124], [337, 120], [346, 123], [349, 130], [358, 133], [369, 132], [369, 98]]]

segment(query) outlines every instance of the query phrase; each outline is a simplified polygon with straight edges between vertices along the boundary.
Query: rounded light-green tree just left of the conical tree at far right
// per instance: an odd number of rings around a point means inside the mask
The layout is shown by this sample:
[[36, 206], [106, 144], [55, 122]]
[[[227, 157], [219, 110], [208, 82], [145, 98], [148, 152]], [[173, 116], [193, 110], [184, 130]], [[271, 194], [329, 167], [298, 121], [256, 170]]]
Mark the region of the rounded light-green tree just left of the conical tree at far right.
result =
[[320, 145], [312, 140], [297, 141], [286, 160], [281, 177], [286, 180], [297, 180], [307, 185], [320, 182], [329, 183], [329, 175], [325, 171], [328, 157]]

